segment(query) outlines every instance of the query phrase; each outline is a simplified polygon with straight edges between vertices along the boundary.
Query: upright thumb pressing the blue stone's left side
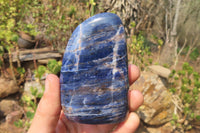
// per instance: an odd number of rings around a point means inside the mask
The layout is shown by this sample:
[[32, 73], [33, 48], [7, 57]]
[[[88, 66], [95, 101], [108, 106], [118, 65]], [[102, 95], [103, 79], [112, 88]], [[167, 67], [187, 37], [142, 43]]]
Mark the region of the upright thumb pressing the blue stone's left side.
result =
[[59, 78], [49, 74], [45, 92], [36, 110], [28, 133], [51, 133], [55, 131], [61, 111]]

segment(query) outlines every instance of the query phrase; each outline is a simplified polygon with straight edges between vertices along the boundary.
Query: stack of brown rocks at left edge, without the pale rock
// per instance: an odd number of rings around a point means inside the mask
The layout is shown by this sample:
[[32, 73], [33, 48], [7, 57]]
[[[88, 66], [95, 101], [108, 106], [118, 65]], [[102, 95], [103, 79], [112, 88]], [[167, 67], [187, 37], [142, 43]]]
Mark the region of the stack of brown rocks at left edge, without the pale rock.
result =
[[0, 133], [22, 132], [23, 129], [14, 126], [14, 122], [23, 116], [23, 109], [19, 105], [15, 94], [20, 88], [13, 80], [0, 78]]

